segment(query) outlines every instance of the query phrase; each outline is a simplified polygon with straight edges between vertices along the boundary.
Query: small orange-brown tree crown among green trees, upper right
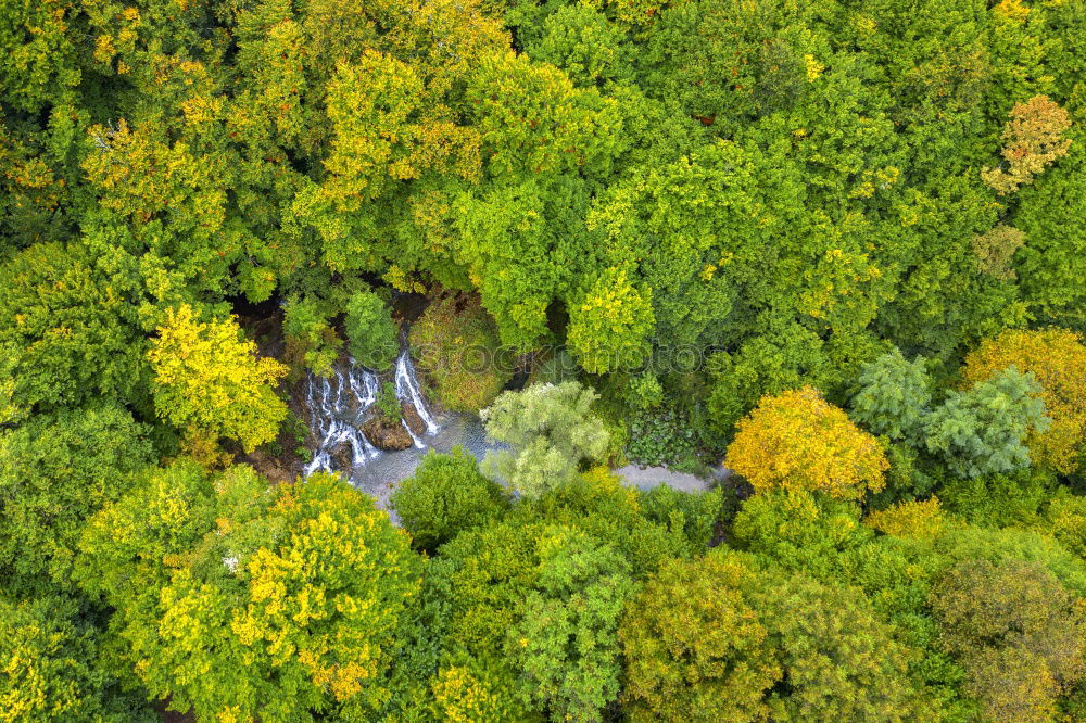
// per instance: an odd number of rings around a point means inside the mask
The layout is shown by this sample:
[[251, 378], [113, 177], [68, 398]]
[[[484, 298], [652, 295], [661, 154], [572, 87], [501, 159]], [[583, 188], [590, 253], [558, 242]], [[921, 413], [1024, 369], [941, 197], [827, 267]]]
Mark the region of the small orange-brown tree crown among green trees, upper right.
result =
[[1071, 139], [1063, 134], [1071, 127], [1068, 112], [1048, 96], [1034, 96], [1011, 109], [1011, 119], [1003, 126], [1002, 156], [1008, 168], [986, 168], [984, 182], [1000, 194], [1013, 193], [1020, 186], [1033, 182], [1033, 177], [1057, 158], [1068, 154]]

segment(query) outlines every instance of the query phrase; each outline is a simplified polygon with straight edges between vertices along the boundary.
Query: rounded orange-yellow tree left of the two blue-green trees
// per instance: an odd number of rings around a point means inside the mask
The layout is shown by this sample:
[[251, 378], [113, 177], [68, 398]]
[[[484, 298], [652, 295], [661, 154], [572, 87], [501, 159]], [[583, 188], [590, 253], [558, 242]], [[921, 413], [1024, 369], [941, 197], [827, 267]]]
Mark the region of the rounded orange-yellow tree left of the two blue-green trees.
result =
[[856, 499], [882, 490], [889, 462], [875, 437], [804, 386], [763, 396], [740, 421], [724, 466], [756, 492], [782, 487]]

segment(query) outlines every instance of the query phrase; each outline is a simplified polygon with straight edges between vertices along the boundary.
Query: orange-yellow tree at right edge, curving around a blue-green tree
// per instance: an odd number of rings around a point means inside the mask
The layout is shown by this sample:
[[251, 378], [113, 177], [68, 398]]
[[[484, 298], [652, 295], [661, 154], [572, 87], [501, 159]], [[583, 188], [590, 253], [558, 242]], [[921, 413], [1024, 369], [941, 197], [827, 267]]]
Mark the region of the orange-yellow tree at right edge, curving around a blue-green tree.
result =
[[1008, 329], [965, 357], [964, 383], [985, 381], [1011, 365], [1037, 378], [1039, 396], [1052, 419], [1047, 431], [1031, 432], [1026, 440], [1034, 459], [1065, 474], [1074, 472], [1086, 441], [1086, 345], [1082, 335], [1065, 329]]

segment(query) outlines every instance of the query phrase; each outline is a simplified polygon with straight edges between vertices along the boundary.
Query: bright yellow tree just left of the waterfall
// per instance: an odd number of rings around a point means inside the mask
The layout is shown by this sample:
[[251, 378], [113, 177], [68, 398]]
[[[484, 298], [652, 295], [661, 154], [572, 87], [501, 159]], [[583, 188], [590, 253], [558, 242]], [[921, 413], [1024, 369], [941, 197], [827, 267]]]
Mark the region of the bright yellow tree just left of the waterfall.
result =
[[200, 321], [182, 304], [166, 312], [148, 356], [159, 416], [190, 437], [226, 436], [247, 451], [275, 439], [287, 405], [275, 385], [287, 367], [256, 356], [232, 319]]

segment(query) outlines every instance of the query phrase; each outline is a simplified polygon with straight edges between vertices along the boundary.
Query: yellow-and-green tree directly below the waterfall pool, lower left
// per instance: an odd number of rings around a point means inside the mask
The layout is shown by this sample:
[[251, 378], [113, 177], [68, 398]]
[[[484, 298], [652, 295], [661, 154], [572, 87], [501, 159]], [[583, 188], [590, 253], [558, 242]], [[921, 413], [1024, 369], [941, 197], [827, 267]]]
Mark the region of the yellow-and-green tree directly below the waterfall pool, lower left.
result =
[[249, 600], [230, 630], [255, 658], [299, 665], [336, 700], [380, 700], [397, 614], [418, 586], [407, 535], [330, 475], [283, 492], [270, 513], [289, 532], [243, 562]]

